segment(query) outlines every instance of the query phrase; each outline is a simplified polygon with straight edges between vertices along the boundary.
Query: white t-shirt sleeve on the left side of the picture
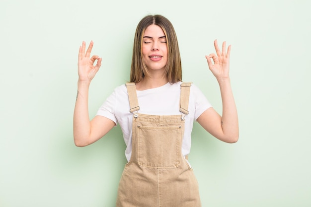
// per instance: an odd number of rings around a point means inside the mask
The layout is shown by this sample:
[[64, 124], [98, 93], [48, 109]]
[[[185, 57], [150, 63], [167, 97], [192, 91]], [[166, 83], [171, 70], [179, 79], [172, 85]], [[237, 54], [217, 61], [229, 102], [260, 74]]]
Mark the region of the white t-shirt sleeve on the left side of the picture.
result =
[[103, 116], [112, 120], [116, 126], [118, 124], [115, 116], [115, 106], [117, 105], [116, 90], [106, 99], [106, 101], [98, 109], [96, 116]]

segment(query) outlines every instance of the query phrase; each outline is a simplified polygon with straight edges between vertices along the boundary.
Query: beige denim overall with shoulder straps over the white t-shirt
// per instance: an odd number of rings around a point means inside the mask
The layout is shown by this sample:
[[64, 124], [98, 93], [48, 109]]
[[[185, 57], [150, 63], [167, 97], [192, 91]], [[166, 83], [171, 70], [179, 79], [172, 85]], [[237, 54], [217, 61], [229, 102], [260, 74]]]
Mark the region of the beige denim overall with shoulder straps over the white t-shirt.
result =
[[135, 84], [126, 85], [132, 156], [121, 176], [117, 207], [201, 207], [197, 180], [181, 153], [191, 83], [181, 84], [181, 115], [173, 116], [137, 113]]

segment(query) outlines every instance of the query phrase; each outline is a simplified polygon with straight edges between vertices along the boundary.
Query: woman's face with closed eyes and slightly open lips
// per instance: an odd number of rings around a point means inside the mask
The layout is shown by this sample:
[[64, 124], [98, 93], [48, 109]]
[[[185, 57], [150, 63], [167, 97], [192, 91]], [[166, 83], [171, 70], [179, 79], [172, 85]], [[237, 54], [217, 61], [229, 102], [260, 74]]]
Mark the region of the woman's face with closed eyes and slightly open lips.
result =
[[142, 46], [143, 61], [149, 72], [165, 70], [167, 64], [166, 37], [161, 27], [152, 24], [145, 30]]

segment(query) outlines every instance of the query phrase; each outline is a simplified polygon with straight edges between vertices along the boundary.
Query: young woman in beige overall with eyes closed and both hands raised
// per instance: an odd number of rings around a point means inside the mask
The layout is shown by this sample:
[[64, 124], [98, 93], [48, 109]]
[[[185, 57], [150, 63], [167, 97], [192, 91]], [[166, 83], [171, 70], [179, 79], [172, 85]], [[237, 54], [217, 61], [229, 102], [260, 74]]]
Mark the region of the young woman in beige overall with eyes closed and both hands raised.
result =
[[90, 57], [93, 42], [86, 51], [82, 42], [74, 140], [77, 146], [86, 146], [120, 125], [128, 162], [119, 183], [117, 207], [201, 206], [198, 184], [187, 160], [194, 120], [222, 141], [238, 139], [229, 77], [231, 46], [226, 51], [226, 42], [222, 50], [216, 40], [214, 45], [216, 54], [206, 59], [219, 82], [223, 116], [194, 84], [181, 82], [178, 42], [170, 21], [148, 15], [136, 29], [130, 83], [117, 87], [89, 121], [88, 88], [102, 59]]

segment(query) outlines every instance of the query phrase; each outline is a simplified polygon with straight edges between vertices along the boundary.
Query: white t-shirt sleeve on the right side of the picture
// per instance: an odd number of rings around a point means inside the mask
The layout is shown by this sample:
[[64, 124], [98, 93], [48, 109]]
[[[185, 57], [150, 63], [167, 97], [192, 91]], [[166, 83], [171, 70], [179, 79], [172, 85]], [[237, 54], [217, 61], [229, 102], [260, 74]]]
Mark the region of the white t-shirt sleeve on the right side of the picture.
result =
[[194, 120], [197, 120], [199, 116], [201, 116], [201, 114], [205, 112], [208, 108], [212, 107], [212, 105], [197, 86], [192, 84], [190, 90], [193, 90], [195, 105]]

